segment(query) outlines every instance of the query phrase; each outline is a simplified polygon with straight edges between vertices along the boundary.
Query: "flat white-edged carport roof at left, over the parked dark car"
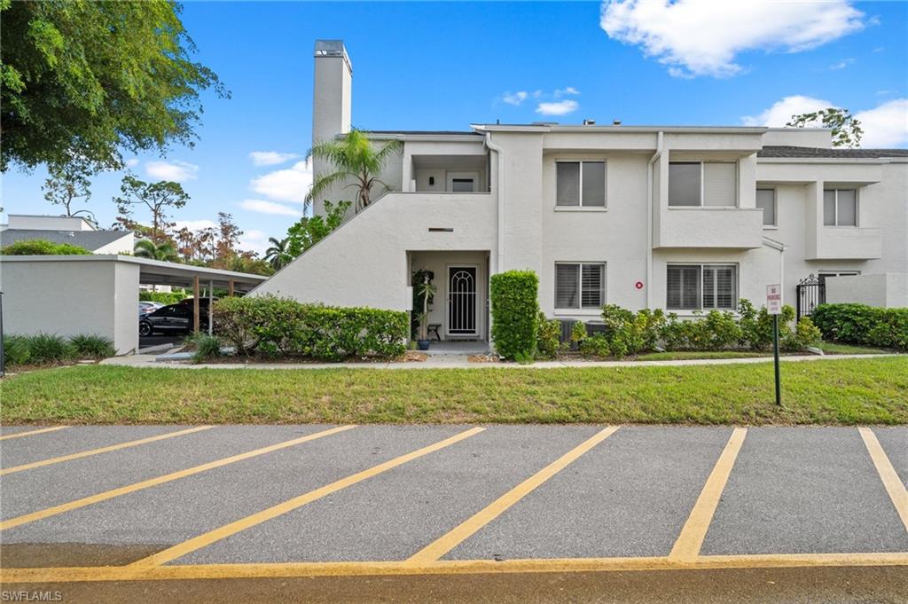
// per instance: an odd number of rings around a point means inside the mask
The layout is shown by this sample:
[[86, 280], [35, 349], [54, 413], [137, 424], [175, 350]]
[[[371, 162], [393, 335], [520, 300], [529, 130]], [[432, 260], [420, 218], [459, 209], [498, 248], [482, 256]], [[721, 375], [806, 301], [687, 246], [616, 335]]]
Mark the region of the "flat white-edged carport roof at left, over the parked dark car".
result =
[[192, 287], [192, 280], [199, 278], [202, 284], [213, 282], [215, 287], [227, 287], [233, 282], [237, 291], [252, 290], [259, 283], [268, 280], [268, 277], [250, 272], [224, 271], [205, 266], [192, 266], [192, 264], [178, 264], [176, 262], [162, 262], [134, 256], [121, 256], [117, 254], [92, 254], [87, 256], [2, 256], [2, 262], [123, 262], [139, 265], [139, 282], [145, 285], [176, 285], [177, 287]]

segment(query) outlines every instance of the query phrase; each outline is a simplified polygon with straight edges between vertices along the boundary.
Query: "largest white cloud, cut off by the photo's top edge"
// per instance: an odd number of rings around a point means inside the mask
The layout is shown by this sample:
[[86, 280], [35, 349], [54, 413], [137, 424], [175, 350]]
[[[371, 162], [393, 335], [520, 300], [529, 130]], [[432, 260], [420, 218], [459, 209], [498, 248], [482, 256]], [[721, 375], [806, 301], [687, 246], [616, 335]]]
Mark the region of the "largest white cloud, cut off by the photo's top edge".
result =
[[726, 77], [743, 69], [737, 54], [808, 50], [863, 29], [863, 17], [848, 0], [605, 0], [599, 25], [676, 77]]

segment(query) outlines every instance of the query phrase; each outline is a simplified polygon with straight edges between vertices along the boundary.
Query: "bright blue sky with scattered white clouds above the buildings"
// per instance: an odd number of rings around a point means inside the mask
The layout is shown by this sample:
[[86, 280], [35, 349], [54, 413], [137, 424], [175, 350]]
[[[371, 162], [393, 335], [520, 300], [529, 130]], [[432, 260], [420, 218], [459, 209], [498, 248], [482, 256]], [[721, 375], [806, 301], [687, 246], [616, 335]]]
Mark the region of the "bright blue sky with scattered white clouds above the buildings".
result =
[[[781, 125], [834, 104], [864, 117], [864, 146], [908, 146], [902, 2], [191, 2], [183, 23], [232, 98], [204, 97], [194, 149], [130, 158], [132, 169], [183, 182], [192, 200], [173, 218], [201, 227], [232, 213], [256, 250], [301, 213], [311, 179], [300, 161], [316, 38], [347, 45], [353, 124], [365, 129], [584, 118]], [[269, 154], [255, 165], [254, 152]], [[95, 177], [80, 206], [102, 225], [114, 220], [122, 175]], [[5, 211], [54, 213], [44, 177], [4, 174]]]

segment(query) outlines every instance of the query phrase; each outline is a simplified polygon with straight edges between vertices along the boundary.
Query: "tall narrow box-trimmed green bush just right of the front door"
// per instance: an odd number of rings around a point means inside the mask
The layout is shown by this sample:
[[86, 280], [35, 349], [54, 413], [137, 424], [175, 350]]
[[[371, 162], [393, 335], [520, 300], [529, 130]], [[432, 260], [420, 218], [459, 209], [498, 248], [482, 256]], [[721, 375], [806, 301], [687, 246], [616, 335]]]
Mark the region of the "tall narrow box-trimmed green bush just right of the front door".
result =
[[538, 333], [539, 278], [532, 271], [499, 272], [491, 278], [492, 339], [498, 354], [532, 357]]

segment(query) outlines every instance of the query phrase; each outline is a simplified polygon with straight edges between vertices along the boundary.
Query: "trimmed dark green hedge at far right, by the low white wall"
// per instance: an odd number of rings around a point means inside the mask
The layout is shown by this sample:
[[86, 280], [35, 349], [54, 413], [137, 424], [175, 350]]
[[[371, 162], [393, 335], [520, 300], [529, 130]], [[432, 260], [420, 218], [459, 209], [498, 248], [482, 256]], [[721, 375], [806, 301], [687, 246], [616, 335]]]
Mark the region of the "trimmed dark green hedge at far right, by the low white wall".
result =
[[826, 340], [908, 351], [908, 308], [820, 304], [810, 318]]

